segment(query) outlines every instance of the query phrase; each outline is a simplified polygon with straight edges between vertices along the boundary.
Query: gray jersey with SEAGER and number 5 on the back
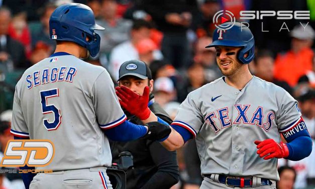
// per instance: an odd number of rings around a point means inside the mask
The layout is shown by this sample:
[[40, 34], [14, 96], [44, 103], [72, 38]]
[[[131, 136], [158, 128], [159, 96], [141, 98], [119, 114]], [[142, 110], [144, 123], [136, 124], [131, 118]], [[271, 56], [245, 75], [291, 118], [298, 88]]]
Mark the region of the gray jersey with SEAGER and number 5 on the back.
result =
[[33, 65], [19, 80], [11, 132], [53, 142], [54, 158], [41, 169], [110, 166], [110, 145], [101, 129], [125, 120], [107, 70], [61, 52]]

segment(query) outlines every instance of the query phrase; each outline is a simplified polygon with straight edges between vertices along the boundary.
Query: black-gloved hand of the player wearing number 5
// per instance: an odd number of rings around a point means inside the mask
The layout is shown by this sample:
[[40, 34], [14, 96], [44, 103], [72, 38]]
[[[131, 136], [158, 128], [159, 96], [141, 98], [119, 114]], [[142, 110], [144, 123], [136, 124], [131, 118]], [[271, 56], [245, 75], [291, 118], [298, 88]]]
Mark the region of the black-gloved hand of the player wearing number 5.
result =
[[168, 125], [164, 125], [160, 122], [149, 122], [146, 126], [148, 127], [148, 131], [142, 138], [149, 140], [161, 140], [167, 137], [172, 131]]

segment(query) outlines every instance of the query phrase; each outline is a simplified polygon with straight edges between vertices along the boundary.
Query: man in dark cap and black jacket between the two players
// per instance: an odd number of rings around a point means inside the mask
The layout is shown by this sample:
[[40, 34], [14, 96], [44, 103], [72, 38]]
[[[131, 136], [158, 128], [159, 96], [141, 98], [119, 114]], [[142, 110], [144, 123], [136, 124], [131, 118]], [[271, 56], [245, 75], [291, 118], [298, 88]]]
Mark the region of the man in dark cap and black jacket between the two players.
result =
[[[153, 90], [151, 70], [143, 61], [131, 60], [123, 63], [119, 70], [119, 86], [124, 86], [143, 95]], [[170, 124], [172, 120], [167, 113], [154, 103], [153, 94], [150, 94], [149, 109], [159, 122]], [[142, 124], [135, 115], [124, 110], [128, 120], [132, 123]], [[113, 162], [119, 162], [119, 153], [129, 151], [133, 155], [134, 168], [127, 171], [127, 188], [170, 188], [178, 181], [178, 165], [176, 152], [167, 151], [159, 142], [148, 139], [138, 139], [129, 142], [110, 141]]]

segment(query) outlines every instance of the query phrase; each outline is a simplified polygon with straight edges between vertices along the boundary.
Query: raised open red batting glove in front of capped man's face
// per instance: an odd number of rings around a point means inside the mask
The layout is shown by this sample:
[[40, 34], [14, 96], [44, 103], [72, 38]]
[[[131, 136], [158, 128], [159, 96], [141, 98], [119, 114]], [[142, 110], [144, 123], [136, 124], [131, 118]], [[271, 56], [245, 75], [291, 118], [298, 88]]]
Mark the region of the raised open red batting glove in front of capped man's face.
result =
[[117, 86], [116, 94], [120, 98], [119, 103], [130, 114], [137, 116], [140, 120], [149, 118], [151, 110], [148, 108], [149, 87], [144, 87], [143, 94], [140, 96], [126, 86]]

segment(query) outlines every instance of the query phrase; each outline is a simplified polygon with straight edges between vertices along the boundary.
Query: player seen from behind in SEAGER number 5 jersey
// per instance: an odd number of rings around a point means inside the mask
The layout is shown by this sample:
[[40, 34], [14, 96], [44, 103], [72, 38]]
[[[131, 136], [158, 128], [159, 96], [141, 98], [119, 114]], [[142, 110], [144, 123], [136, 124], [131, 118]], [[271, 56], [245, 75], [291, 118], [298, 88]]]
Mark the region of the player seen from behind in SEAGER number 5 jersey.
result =
[[15, 138], [52, 141], [54, 158], [40, 169], [53, 173], [24, 178], [25, 185], [112, 188], [106, 174], [112, 163], [108, 138], [156, 140], [171, 131], [154, 123], [142, 126], [126, 121], [107, 70], [79, 59], [97, 55], [100, 37], [94, 30], [104, 30], [95, 24], [89, 7], [60, 6], [49, 27], [51, 39], [57, 40], [55, 53], [27, 69], [17, 83], [11, 133]]

